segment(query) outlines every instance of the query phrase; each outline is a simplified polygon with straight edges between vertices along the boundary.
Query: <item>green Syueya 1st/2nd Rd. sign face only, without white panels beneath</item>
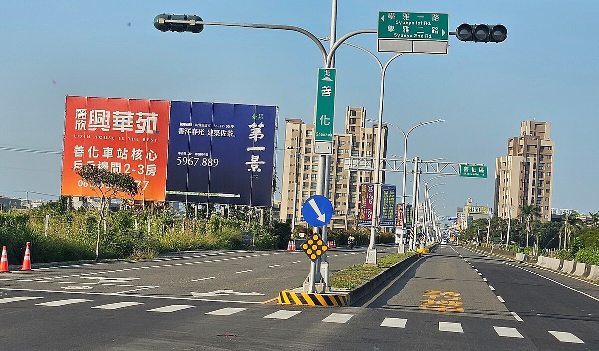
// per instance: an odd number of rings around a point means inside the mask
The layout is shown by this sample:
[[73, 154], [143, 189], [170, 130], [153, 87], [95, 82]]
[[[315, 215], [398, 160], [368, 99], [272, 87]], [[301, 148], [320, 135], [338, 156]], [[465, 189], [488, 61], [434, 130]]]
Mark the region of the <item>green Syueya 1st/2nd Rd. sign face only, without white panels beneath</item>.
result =
[[379, 11], [379, 39], [447, 40], [449, 14]]

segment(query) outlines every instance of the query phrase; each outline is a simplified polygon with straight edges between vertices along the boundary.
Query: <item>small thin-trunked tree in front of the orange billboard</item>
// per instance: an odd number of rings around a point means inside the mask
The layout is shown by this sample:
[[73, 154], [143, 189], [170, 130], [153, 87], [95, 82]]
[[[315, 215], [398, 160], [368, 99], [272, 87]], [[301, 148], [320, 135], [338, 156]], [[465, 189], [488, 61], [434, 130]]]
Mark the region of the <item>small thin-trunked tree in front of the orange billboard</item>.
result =
[[100, 256], [100, 234], [102, 233], [102, 221], [106, 214], [106, 208], [110, 202], [117, 196], [134, 197], [139, 191], [135, 179], [129, 173], [108, 172], [93, 164], [85, 164], [76, 169], [78, 176], [86, 181], [93, 191], [101, 199], [100, 219], [98, 221], [98, 237], [96, 239], [96, 260], [98, 263]]

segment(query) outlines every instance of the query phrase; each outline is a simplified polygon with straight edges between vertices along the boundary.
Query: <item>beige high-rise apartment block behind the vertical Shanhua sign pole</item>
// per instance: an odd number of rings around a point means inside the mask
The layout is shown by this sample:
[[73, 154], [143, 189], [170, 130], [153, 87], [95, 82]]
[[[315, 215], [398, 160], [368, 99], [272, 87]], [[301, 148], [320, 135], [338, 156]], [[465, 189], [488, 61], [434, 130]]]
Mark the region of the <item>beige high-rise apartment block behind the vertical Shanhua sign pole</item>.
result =
[[[334, 133], [333, 155], [329, 164], [329, 200], [333, 217], [329, 228], [355, 228], [358, 218], [359, 184], [374, 182], [373, 171], [350, 170], [349, 157], [376, 157], [377, 124], [366, 127], [366, 109], [346, 108], [345, 132]], [[386, 156], [388, 127], [382, 128], [383, 154]], [[295, 118], [285, 119], [285, 155], [281, 185], [281, 221], [292, 227], [306, 225], [301, 207], [308, 197], [316, 195], [318, 161], [313, 154], [314, 124]], [[380, 182], [385, 173], [380, 173]], [[295, 223], [294, 223], [295, 221]]]

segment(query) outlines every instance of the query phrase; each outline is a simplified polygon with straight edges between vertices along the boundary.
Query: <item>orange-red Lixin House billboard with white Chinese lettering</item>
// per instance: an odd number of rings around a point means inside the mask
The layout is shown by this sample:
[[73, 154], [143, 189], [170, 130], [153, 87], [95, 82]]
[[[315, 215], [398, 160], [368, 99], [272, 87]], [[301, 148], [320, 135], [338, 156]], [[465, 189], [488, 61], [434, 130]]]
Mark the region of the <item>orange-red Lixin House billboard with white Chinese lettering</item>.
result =
[[164, 201], [169, 119], [170, 101], [67, 96], [60, 194], [98, 197], [75, 173], [93, 164], [130, 173], [135, 199]]

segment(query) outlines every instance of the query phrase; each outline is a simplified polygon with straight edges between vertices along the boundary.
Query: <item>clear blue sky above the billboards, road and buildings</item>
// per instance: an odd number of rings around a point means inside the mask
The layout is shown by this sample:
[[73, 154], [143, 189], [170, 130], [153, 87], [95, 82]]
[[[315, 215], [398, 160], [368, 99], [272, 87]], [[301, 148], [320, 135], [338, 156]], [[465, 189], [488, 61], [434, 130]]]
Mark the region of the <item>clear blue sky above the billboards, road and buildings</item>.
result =
[[[0, 2], [0, 146], [62, 149], [65, 95], [277, 105], [284, 118], [313, 118], [322, 59], [298, 33], [207, 26], [202, 33], [159, 32], [160, 13], [206, 21], [294, 25], [329, 35], [328, 1], [2, 1]], [[339, 0], [338, 36], [376, 28], [377, 11], [449, 13], [464, 22], [505, 25], [501, 44], [459, 42], [448, 55], [404, 55], [388, 71], [384, 119], [409, 128], [409, 157], [485, 163], [488, 179], [444, 178], [444, 213], [472, 197], [492, 205], [495, 158], [520, 122], [552, 122], [553, 207], [597, 212], [599, 2]], [[128, 26], [128, 23], [131, 23]], [[376, 51], [376, 35], [351, 40]], [[390, 54], [380, 54], [382, 60]], [[337, 123], [346, 106], [379, 108], [379, 68], [351, 47], [337, 54]], [[389, 153], [403, 153], [391, 130]], [[280, 171], [279, 157], [279, 174]], [[61, 157], [0, 149], [0, 194], [59, 194]], [[400, 184], [398, 173], [388, 182]], [[5, 193], [7, 196], [11, 195]], [[25, 197], [25, 194], [16, 194]], [[30, 196], [37, 197], [37, 196]], [[44, 198], [44, 196], [39, 196]], [[49, 198], [49, 197], [46, 197]]]

